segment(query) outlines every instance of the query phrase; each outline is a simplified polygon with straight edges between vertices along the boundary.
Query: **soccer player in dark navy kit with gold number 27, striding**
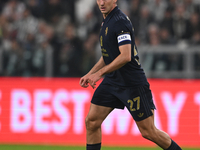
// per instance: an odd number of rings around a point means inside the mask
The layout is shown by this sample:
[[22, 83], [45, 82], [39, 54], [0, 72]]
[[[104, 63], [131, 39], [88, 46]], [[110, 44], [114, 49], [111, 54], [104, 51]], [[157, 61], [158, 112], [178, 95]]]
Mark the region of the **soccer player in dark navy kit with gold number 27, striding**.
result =
[[101, 124], [114, 108], [128, 108], [142, 136], [165, 150], [181, 148], [154, 125], [154, 103], [149, 83], [141, 68], [134, 29], [117, 6], [117, 0], [97, 0], [104, 20], [100, 31], [102, 57], [80, 79], [80, 85], [96, 87], [85, 119], [87, 150], [101, 149]]

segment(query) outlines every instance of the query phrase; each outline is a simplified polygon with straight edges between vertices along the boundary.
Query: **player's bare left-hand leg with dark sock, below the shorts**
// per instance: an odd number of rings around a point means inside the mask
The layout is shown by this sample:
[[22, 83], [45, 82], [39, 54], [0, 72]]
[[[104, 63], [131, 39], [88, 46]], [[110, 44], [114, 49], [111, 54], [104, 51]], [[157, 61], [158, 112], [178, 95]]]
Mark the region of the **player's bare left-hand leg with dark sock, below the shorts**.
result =
[[91, 103], [89, 113], [85, 119], [87, 131], [87, 150], [100, 150], [101, 124], [112, 110], [113, 108]]

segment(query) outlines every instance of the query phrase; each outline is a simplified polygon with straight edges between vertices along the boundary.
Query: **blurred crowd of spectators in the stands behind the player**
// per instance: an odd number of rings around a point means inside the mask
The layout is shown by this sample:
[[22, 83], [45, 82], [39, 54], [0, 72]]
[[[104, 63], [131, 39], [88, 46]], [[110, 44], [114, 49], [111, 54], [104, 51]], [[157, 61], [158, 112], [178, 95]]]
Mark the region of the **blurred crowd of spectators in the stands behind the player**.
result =
[[[0, 1], [0, 75], [87, 73], [101, 55], [98, 34], [103, 18], [94, 3], [78, 19], [80, 1]], [[137, 46], [200, 45], [199, 0], [118, 0], [118, 5], [132, 21]]]

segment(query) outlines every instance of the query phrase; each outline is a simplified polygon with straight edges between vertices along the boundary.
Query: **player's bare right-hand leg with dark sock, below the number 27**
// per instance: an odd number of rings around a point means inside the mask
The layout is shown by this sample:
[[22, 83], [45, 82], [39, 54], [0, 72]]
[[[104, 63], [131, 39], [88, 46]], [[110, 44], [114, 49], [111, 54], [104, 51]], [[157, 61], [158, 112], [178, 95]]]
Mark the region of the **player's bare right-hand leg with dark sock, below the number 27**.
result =
[[181, 148], [171, 140], [167, 133], [155, 127], [154, 113], [152, 116], [142, 121], [136, 121], [136, 124], [144, 138], [156, 143], [164, 150], [181, 150]]

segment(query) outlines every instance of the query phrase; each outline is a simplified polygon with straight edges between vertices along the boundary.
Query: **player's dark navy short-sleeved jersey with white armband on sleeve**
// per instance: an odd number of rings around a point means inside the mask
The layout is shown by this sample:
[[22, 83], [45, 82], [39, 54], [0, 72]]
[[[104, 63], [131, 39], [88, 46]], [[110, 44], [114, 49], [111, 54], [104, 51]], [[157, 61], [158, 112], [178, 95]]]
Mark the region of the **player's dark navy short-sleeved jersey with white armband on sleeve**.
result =
[[99, 38], [106, 65], [120, 54], [121, 45], [131, 44], [131, 61], [120, 69], [106, 74], [103, 82], [132, 87], [148, 83], [139, 63], [133, 26], [129, 18], [118, 7], [115, 7], [103, 20]]

